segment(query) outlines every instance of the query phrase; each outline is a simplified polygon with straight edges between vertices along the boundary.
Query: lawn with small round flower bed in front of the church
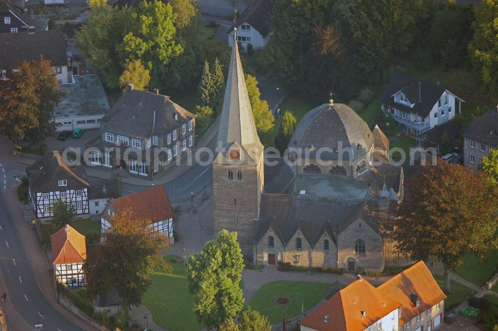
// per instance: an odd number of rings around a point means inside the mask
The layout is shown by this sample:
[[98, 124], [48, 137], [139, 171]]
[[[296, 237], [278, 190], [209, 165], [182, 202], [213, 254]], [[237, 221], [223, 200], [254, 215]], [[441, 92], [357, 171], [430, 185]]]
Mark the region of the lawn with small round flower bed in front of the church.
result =
[[[304, 303], [304, 311], [313, 308], [325, 295], [330, 284], [307, 283], [295, 281], [276, 281], [263, 285], [249, 302], [253, 310], [268, 316], [271, 324], [282, 320], [282, 311], [285, 318], [291, 318], [301, 314], [301, 306]], [[276, 305], [273, 301], [278, 297], [288, 297], [291, 304], [288, 306]]]

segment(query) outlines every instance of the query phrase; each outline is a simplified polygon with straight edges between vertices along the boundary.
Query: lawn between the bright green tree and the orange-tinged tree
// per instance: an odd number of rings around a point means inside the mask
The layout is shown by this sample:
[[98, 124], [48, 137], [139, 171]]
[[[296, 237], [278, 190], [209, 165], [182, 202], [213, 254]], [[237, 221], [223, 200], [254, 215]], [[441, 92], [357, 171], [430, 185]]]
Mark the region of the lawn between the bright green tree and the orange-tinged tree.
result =
[[165, 259], [173, 267], [172, 273], [156, 271], [152, 284], [142, 296], [142, 302], [152, 313], [154, 322], [168, 330], [201, 330], [192, 311], [194, 297], [187, 291], [187, 270], [183, 262], [171, 262], [175, 256]]

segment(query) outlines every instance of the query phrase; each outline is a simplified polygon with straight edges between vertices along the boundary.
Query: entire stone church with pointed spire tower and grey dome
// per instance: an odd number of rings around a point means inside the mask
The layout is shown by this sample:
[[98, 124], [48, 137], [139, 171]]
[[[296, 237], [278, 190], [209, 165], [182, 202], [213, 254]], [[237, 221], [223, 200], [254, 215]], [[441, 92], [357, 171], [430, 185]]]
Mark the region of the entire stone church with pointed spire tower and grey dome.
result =
[[332, 98], [298, 123], [283, 157], [264, 155], [237, 42], [213, 162], [215, 234], [236, 231], [254, 264], [382, 271], [410, 261], [392, 239], [403, 170], [389, 141]]

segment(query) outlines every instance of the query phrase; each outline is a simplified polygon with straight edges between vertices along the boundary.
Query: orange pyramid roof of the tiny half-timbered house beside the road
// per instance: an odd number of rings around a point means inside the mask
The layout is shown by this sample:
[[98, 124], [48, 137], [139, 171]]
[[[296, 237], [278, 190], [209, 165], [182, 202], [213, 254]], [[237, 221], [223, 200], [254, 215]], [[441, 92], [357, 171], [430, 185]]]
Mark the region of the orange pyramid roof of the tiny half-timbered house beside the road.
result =
[[79, 263], [87, 259], [85, 236], [66, 226], [50, 236], [53, 264]]

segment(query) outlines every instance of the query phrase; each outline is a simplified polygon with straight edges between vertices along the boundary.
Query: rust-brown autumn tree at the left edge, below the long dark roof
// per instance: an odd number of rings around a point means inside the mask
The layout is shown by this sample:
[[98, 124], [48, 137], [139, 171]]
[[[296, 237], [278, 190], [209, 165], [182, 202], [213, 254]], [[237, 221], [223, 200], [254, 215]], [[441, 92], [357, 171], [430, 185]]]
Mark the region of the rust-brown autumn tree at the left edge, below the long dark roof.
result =
[[0, 80], [0, 134], [40, 143], [55, 133], [54, 105], [63, 95], [50, 61], [24, 62]]

